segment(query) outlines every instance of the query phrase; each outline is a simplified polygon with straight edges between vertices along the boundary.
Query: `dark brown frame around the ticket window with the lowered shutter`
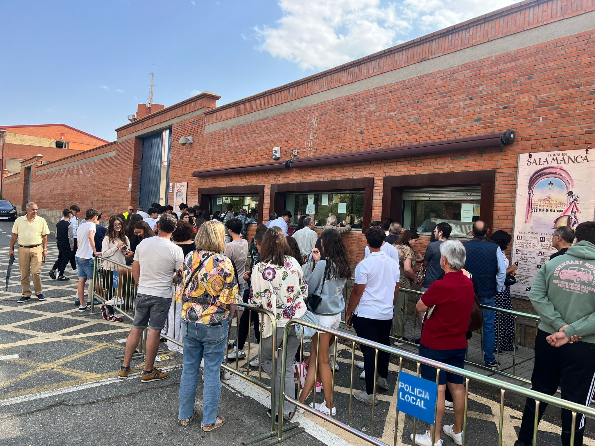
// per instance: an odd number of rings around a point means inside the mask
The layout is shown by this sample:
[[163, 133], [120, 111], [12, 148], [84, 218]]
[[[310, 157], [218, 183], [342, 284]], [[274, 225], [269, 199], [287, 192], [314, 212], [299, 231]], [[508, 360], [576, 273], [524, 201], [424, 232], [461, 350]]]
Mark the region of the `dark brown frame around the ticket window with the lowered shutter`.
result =
[[[496, 170], [485, 169], [471, 172], [441, 172], [437, 174], [413, 174], [384, 177], [382, 215], [400, 221], [403, 216], [403, 190], [433, 187], [481, 187], [480, 220], [492, 228], [494, 219], [494, 186]], [[421, 234], [430, 234], [422, 232]]]

